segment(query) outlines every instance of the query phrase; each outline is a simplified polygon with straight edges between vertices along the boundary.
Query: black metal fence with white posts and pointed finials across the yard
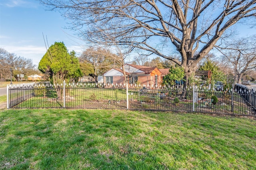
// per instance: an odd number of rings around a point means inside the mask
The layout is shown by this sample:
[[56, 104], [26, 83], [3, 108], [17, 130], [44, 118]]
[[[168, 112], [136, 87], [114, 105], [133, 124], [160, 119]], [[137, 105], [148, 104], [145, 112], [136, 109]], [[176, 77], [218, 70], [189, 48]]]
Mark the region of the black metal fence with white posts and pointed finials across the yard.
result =
[[243, 93], [239, 88], [216, 91], [202, 86], [182, 89], [137, 84], [43, 83], [8, 87], [8, 108], [130, 109], [256, 116], [255, 98], [255, 91]]

